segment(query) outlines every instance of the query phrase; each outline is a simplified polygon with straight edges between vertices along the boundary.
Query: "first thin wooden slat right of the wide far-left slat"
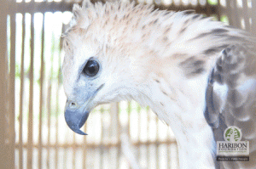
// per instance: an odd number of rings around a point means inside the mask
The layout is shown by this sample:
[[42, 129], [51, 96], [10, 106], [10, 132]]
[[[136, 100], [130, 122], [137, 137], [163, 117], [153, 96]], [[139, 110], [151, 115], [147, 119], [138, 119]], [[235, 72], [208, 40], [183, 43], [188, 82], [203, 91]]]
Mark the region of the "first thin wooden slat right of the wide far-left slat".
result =
[[21, 66], [20, 66], [20, 127], [19, 127], [19, 166], [23, 168], [23, 95], [24, 95], [24, 54], [25, 54], [25, 14], [22, 14], [22, 47], [21, 47]]

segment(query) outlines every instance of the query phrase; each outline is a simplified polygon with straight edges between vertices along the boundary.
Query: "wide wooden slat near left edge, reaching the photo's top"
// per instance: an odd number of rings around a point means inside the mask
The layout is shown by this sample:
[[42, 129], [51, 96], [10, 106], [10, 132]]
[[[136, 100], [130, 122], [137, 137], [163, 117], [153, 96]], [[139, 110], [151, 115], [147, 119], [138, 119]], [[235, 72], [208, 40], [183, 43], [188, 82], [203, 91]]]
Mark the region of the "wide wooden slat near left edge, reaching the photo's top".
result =
[[15, 48], [16, 48], [16, 14], [15, 0], [11, 1], [10, 14], [10, 58], [9, 58], [9, 162], [15, 168]]

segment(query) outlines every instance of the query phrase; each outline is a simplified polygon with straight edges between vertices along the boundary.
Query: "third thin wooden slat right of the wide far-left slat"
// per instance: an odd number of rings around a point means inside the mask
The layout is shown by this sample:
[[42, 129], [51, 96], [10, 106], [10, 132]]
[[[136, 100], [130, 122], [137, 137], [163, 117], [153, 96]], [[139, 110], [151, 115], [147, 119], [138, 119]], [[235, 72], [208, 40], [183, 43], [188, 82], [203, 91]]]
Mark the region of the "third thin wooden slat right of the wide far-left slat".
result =
[[39, 105], [39, 127], [38, 127], [38, 169], [42, 168], [42, 117], [44, 99], [44, 14], [41, 39], [41, 70], [40, 70], [40, 105]]

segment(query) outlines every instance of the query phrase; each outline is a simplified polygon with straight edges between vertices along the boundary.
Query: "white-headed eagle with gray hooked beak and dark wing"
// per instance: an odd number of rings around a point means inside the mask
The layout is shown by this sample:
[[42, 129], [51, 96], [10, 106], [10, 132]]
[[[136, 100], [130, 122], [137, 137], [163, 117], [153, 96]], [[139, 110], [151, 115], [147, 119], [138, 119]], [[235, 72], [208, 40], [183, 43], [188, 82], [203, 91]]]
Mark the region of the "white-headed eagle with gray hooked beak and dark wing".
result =
[[[256, 38], [194, 11], [152, 5], [74, 4], [63, 34], [65, 120], [73, 132], [98, 104], [135, 100], [172, 128], [179, 165], [256, 168]], [[248, 161], [218, 161], [237, 127]]]

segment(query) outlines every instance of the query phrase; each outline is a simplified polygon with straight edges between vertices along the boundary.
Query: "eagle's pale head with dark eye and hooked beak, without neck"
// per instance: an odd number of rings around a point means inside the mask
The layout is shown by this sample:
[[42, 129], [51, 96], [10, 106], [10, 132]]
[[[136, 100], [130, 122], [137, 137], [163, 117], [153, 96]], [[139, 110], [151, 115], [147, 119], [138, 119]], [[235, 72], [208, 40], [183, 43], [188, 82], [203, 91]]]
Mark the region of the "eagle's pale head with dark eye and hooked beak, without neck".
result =
[[[84, 134], [79, 128], [96, 105], [142, 97], [148, 74], [154, 69], [152, 63], [148, 66], [153, 60], [147, 59], [152, 51], [143, 47], [136, 27], [131, 29], [124, 20], [134, 17], [129, 16], [133, 4], [127, 5], [93, 6], [86, 1], [82, 8], [73, 8], [73, 25], [63, 35], [62, 73], [67, 95], [65, 119], [79, 134]], [[111, 10], [116, 10], [115, 14]], [[139, 8], [137, 12], [143, 13]], [[136, 21], [140, 26], [140, 20]]]

